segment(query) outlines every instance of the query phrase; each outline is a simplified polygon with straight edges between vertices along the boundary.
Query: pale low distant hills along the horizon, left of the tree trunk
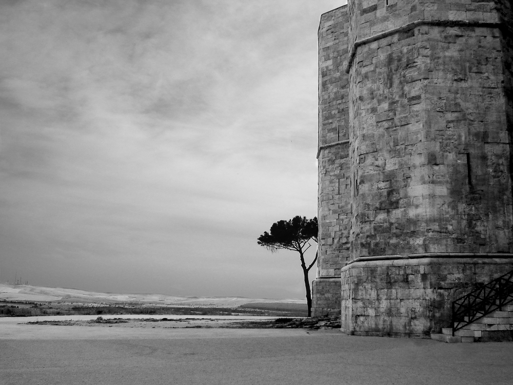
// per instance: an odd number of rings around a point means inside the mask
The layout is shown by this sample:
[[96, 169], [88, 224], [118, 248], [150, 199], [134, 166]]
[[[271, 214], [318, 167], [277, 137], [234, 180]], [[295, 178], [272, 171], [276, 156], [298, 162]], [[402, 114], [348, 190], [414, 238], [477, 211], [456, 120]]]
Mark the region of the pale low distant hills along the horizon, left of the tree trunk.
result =
[[0, 282], [0, 301], [155, 304], [160, 306], [238, 307], [251, 303], [297, 304], [302, 299], [270, 299], [245, 297], [186, 297], [167, 294], [96, 293], [64, 287], [44, 287]]

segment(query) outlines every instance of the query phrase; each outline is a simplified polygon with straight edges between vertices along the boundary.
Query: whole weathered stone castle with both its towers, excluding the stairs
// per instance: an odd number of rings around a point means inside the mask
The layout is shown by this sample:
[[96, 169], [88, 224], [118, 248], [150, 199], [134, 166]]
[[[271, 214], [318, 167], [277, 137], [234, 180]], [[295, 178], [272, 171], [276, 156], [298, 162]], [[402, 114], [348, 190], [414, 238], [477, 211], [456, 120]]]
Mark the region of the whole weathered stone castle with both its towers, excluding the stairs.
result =
[[513, 269], [509, 0], [349, 0], [319, 27], [314, 316], [426, 335]]

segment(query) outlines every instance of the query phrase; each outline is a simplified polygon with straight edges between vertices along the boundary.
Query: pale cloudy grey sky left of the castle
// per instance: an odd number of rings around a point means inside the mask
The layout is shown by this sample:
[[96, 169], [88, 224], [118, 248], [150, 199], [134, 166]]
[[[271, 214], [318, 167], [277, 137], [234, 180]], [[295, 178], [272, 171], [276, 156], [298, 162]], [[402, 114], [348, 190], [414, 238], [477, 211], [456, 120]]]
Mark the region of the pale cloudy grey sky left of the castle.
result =
[[0, 0], [0, 281], [304, 298], [257, 238], [317, 215], [317, 29], [345, 3]]

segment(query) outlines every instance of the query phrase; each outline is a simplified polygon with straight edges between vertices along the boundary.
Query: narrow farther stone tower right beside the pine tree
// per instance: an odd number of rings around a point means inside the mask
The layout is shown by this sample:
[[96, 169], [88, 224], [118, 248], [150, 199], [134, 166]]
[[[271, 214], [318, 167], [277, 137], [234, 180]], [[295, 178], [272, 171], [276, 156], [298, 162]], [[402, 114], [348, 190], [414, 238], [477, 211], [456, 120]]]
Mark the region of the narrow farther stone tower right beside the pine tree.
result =
[[[319, 248], [313, 315], [340, 311], [340, 268], [349, 259], [347, 6], [319, 25]], [[335, 283], [335, 282], [338, 282]]]

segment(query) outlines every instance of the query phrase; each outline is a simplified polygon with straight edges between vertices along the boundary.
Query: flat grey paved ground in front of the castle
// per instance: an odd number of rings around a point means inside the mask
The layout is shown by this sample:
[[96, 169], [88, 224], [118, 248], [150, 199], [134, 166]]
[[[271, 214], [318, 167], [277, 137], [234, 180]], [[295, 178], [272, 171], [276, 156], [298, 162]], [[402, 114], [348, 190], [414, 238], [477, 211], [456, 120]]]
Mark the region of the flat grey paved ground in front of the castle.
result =
[[[513, 343], [446, 344], [339, 331], [0, 330], [0, 383], [510, 384]], [[11, 328], [12, 329], [12, 328]]]

